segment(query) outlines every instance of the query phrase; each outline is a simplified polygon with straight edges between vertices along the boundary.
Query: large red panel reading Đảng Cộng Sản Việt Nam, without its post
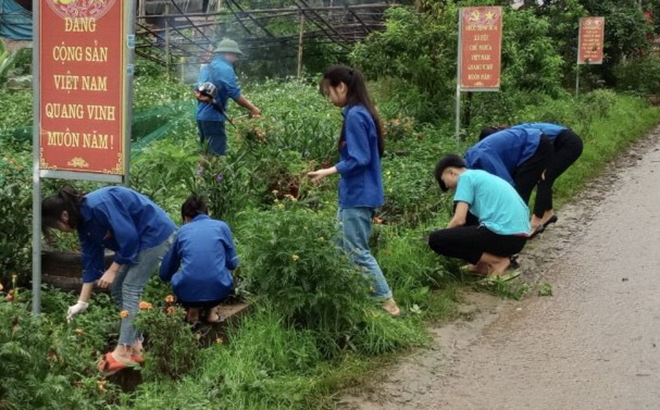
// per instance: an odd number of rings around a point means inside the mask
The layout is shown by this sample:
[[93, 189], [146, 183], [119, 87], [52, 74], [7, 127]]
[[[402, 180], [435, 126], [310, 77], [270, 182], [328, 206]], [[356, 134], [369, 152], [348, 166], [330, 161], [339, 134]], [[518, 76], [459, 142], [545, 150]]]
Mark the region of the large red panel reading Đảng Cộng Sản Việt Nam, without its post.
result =
[[40, 167], [124, 174], [124, 0], [39, 1]]

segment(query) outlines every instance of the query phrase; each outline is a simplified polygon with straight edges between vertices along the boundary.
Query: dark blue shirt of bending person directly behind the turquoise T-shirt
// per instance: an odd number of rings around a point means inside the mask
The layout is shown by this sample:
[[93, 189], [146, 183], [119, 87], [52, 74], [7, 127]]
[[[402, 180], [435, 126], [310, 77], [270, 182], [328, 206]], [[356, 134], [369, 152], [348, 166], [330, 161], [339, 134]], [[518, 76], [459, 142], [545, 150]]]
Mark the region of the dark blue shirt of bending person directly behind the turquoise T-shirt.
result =
[[507, 128], [489, 135], [465, 154], [470, 169], [481, 169], [515, 186], [513, 174], [539, 147], [541, 131], [534, 128]]

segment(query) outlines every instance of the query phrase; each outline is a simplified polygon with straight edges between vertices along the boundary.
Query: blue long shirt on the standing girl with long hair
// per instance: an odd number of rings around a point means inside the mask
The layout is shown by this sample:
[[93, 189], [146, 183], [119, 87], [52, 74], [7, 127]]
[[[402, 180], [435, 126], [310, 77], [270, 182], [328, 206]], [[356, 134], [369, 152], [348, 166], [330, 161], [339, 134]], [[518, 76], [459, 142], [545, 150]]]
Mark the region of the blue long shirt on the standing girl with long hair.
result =
[[377, 208], [384, 194], [376, 123], [363, 105], [345, 107], [343, 113], [344, 144], [335, 165], [341, 174], [339, 206]]

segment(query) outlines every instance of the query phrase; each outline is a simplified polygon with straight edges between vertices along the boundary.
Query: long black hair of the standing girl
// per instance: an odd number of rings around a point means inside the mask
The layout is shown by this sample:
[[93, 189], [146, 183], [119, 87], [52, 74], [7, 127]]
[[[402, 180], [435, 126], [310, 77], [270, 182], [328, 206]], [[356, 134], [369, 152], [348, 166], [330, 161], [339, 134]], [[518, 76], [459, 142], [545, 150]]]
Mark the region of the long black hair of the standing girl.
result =
[[[376, 123], [376, 132], [378, 134], [378, 154], [382, 157], [385, 152], [385, 138], [383, 133], [383, 123], [378, 116], [376, 107], [371, 102], [369, 98], [369, 92], [367, 91], [367, 82], [364, 80], [364, 76], [360, 70], [345, 65], [334, 65], [328, 67], [323, 73], [323, 79], [319, 84], [319, 90], [321, 94], [327, 95], [328, 86], [337, 87], [339, 84], [346, 84], [346, 105], [364, 105], [371, 117]], [[345, 128], [342, 127], [342, 132], [339, 137], [339, 149], [341, 149], [345, 136]]]

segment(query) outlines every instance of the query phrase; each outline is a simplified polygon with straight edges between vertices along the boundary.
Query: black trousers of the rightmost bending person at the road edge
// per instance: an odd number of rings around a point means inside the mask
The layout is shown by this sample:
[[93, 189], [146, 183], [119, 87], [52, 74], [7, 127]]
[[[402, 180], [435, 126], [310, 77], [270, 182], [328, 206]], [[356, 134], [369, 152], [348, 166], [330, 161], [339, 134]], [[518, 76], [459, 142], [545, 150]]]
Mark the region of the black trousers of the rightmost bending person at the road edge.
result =
[[545, 170], [545, 179], [540, 180], [536, 188], [534, 215], [540, 218], [545, 211], [552, 209], [552, 185], [580, 158], [582, 149], [582, 139], [572, 130], [566, 130], [557, 135], [554, 145], [555, 152]]

